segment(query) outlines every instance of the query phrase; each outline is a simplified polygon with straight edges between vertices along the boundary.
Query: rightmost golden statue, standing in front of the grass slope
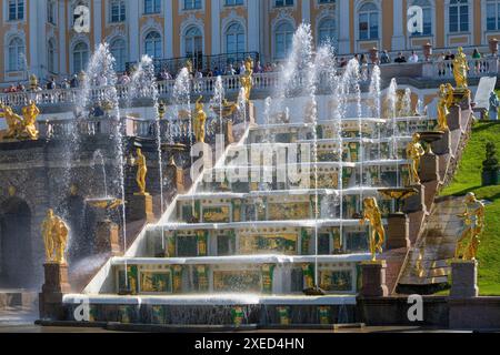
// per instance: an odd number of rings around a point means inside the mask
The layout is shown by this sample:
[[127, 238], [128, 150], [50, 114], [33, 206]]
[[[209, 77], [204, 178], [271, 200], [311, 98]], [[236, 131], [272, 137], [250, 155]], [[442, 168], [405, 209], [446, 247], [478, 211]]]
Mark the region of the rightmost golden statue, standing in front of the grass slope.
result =
[[478, 256], [479, 236], [484, 230], [484, 204], [476, 199], [472, 192], [463, 201], [466, 211], [459, 214], [464, 222], [464, 229], [457, 242], [454, 258], [476, 260]]

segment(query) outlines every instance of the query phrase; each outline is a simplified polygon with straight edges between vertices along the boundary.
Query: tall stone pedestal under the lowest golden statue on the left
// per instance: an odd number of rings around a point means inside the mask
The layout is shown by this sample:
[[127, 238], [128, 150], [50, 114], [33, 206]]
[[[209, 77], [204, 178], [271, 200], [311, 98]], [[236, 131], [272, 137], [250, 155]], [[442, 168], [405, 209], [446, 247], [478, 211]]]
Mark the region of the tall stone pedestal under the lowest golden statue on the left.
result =
[[62, 321], [64, 317], [64, 307], [62, 296], [71, 292], [68, 283], [67, 264], [43, 264], [44, 284], [39, 294], [40, 318]]

